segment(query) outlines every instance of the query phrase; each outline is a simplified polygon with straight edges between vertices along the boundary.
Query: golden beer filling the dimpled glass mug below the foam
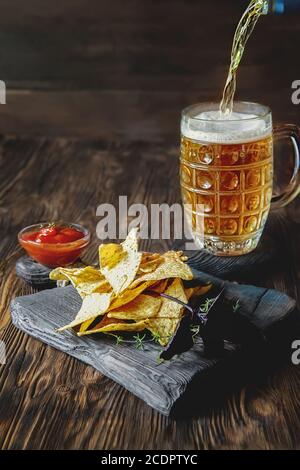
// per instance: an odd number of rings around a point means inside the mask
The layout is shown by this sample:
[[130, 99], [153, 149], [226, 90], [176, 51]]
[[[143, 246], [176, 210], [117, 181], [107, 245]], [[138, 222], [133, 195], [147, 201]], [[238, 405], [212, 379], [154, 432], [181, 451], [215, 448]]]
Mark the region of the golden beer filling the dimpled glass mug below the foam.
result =
[[[239, 123], [241, 135], [243, 124]], [[272, 199], [273, 137], [272, 132], [268, 134], [237, 143], [223, 143], [222, 133], [216, 134], [219, 142], [203, 141], [203, 135], [202, 141], [182, 135], [182, 200], [200, 247], [228, 255], [247, 253], [257, 246]], [[204, 137], [209, 139], [209, 135]]]

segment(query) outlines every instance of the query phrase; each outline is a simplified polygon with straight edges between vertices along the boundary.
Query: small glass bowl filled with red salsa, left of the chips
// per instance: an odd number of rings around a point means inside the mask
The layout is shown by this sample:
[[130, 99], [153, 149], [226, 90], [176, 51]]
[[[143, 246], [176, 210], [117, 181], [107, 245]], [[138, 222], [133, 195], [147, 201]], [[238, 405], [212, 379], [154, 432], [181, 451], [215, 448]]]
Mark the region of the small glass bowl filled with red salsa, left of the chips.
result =
[[18, 234], [27, 254], [49, 268], [74, 263], [90, 242], [88, 229], [72, 223], [40, 223], [23, 228]]

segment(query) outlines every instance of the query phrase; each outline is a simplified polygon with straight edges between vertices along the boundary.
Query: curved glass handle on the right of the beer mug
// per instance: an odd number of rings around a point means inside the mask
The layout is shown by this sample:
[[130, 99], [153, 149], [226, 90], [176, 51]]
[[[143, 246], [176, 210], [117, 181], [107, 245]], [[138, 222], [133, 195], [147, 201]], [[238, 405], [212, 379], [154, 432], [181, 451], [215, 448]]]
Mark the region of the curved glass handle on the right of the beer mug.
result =
[[272, 197], [271, 209], [280, 209], [287, 206], [300, 193], [300, 128], [294, 124], [275, 126], [274, 137], [275, 139], [291, 139], [295, 154], [294, 171], [289, 184], [282, 194]]

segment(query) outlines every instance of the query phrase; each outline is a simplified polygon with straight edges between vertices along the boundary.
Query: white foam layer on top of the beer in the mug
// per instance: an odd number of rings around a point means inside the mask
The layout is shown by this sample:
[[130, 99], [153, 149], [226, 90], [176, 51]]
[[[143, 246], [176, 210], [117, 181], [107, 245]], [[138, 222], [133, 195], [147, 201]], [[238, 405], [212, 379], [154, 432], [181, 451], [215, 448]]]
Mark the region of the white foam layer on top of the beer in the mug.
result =
[[263, 139], [272, 133], [272, 122], [255, 114], [206, 111], [182, 120], [181, 133], [204, 143], [240, 144]]

